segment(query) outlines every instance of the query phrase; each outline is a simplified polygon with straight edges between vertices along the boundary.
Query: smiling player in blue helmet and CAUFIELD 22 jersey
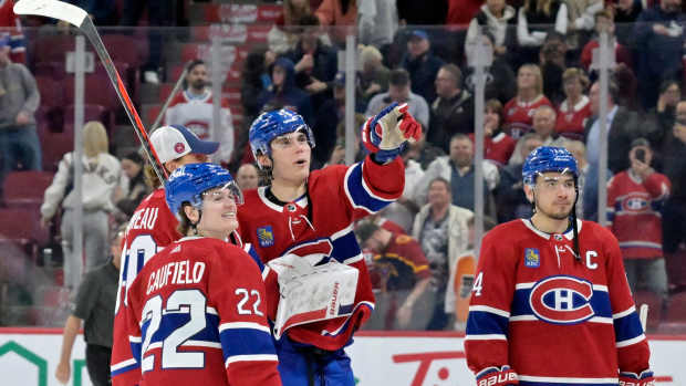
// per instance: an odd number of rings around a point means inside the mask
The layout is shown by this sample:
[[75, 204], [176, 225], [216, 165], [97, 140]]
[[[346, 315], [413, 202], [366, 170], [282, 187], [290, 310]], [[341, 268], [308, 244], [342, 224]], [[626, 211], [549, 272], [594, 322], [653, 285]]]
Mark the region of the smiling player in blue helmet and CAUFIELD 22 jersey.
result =
[[128, 291], [126, 332], [144, 385], [280, 386], [256, 261], [226, 242], [238, 227], [238, 185], [216, 164], [176, 169], [166, 201], [181, 233]]

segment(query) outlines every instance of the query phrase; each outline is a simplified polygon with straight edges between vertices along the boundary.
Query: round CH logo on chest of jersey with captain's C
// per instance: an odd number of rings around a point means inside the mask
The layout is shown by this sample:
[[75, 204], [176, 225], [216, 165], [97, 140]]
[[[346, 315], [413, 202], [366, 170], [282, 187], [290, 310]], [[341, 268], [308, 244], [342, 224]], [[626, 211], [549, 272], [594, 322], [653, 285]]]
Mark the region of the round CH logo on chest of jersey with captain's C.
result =
[[567, 275], [549, 277], [537, 282], [529, 294], [529, 305], [533, 314], [554, 324], [578, 324], [586, 321], [595, 312], [591, 306], [593, 284]]

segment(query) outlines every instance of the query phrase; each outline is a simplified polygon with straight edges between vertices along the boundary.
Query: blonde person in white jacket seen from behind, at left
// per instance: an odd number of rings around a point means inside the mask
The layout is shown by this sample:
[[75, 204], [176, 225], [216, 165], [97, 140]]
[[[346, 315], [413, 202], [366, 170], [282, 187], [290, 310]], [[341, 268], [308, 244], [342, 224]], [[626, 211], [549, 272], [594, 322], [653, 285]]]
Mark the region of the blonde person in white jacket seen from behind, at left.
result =
[[122, 167], [119, 160], [107, 153], [107, 132], [100, 122], [83, 126], [82, 204], [85, 270], [81, 255], [74, 254], [74, 209], [76, 202], [74, 185], [74, 155], [67, 153], [60, 161], [52, 184], [45, 189], [41, 206], [41, 225], [46, 226], [62, 208], [62, 250], [64, 255], [64, 286], [77, 288], [83, 273], [107, 260], [108, 213], [114, 209], [113, 195], [119, 184]]

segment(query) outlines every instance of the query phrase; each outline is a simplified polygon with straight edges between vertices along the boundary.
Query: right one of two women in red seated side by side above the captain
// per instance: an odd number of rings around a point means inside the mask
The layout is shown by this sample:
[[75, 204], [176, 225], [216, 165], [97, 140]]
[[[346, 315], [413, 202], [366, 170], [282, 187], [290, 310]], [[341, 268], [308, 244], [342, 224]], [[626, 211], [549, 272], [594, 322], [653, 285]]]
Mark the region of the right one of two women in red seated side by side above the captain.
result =
[[558, 108], [555, 131], [563, 137], [583, 142], [586, 119], [591, 116], [591, 100], [583, 94], [589, 79], [583, 70], [567, 69], [562, 74], [562, 84], [567, 98]]

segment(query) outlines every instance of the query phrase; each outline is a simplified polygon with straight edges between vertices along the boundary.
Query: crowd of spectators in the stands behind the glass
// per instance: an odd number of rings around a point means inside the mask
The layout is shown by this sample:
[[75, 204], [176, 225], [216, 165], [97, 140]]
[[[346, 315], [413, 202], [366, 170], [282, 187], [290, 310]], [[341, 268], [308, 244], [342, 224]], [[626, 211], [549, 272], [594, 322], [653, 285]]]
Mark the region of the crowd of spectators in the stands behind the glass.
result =
[[[183, 19], [169, 11], [157, 13], [165, 8], [163, 1], [117, 3], [124, 4], [118, 21], [112, 17], [114, 8], [102, 6], [89, 12], [102, 25], [134, 25], [141, 19], [141, 4], [147, 3], [148, 25], [170, 25]], [[542, 145], [565, 147], [576, 157], [579, 218], [599, 218], [597, 186], [607, 184], [607, 226], [620, 240], [630, 284], [633, 290], [656, 293], [663, 316], [667, 314], [669, 294], [686, 284], [686, 279], [672, 280], [665, 259], [686, 250], [686, 233], [680, 229], [686, 219], [686, 102], [682, 102], [686, 13], [682, 0], [283, 0], [279, 7], [282, 12], [269, 25], [266, 41], [251, 46], [242, 62], [240, 98], [220, 102], [219, 131], [208, 129], [212, 94], [201, 60], [188, 64], [186, 87], [167, 111], [165, 124], [183, 124], [201, 138], [221, 142], [228, 153], [216, 160], [235, 173], [243, 189], [257, 187], [263, 178], [247, 144], [248, 127], [261, 112], [272, 108], [295, 111], [312, 128], [313, 167], [344, 163], [346, 80], [339, 56], [345, 35], [355, 34], [356, 126], [397, 102], [407, 103], [424, 128], [423, 139], [402, 155], [406, 166], [403, 197], [358, 227], [357, 237], [367, 248], [365, 258], [383, 303], [372, 327], [464, 328], [459, 313], [465, 290], [460, 285], [468, 282], [468, 274], [460, 277], [458, 263], [462, 255], [475, 258], [475, 184], [484, 185], [487, 228], [531, 216], [521, 168], [526, 156]], [[606, 117], [599, 117], [599, 61], [593, 55], [602, 31], [607, 32], [615, 54]], [[144, 82], [159, 82], [157, 75], [165, 65], [160, 33], [150, 29], [150, 53], [142, 64]], [[493, 52], [486, 69], [486, 159], [481, 165], [475, 165], [476, 77], [469, 66], [478, 36]], [[23, 81], [12, 79], [25, 90], [22, 98], [14, 100], [12, 116], [6, 114], [8, 96], [0, 96], [0, 138], [11, 135], [6, 124], [33, 125], [14, 132], [35, 134], [35, 82], [27, 66], [3, 64], [11, 63], [2, 55], [14, 53], [14, 45], [9, 38], [0, 43], [2, 86], [14, 92], [6, 83], [6, 72], [11, 70], [21, 74]], [[242, 119], [232, 118], [236, 112]], [[609, 131], [609, 180], [599, 182], [601, 119]], [[33, 134], [30, 143], [37, 144]], [[2, 146], [11, 144], [0, 140]], [[360, 159], [365, 150], [354, 146]], [[87, 153], [84, 173], [105, 165], [101, 160], [94, 166], [95, 156]], [[6, 156], [3, 176], [13, 168], [40, 169], [40, 146], [25, 160]], [[70, 157], [60, 164], [55, 184], [69, 173]], [[124, 221], [149, 191], [143, 178], [144, 160], [133, 153], [112, 165], [116, 169], [113, 180], [123, 182], [98, 192], [98, 198], [111, 197], [111, 201], [97, 210]], [[482, 182], [475, 182], [476, 167], [484, 171]], [[69, 194], [55, 195], [54, 190], [53, 184], [45, 194], [44, 221], [60, 204], [66, 209], [62, 221], [69, 218]], [[87, 216], [97, 216], [95, 210]], [[97, 219], [98, 226], [90, 231], [106, 233], [102, 221], [106, 217]], [[66, 238], [64, 229], [62, 238]], [[97, 248], [104, 250], [107, 238], [101, 240]]]

